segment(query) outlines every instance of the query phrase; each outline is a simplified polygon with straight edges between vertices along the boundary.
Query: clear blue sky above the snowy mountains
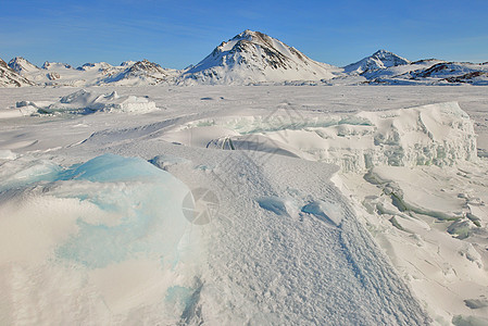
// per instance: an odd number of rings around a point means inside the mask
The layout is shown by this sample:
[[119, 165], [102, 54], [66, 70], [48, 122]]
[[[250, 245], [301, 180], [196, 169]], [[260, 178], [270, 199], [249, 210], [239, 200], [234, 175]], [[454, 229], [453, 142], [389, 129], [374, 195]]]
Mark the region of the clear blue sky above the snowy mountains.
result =
[[0, 0], [0, 58], [183, 68], [249, 28], [335, 65], [377, 49], [486, 62], [487, 17], [487, 0]]

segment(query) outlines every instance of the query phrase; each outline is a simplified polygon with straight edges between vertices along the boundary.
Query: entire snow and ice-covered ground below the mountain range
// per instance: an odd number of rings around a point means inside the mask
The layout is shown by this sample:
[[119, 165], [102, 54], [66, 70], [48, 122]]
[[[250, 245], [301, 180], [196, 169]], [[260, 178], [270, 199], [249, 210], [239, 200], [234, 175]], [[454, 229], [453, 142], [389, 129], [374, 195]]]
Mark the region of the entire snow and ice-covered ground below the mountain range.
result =
[[488, 323], [485, 88], [75, 90], [0, 90], [1, 324]]

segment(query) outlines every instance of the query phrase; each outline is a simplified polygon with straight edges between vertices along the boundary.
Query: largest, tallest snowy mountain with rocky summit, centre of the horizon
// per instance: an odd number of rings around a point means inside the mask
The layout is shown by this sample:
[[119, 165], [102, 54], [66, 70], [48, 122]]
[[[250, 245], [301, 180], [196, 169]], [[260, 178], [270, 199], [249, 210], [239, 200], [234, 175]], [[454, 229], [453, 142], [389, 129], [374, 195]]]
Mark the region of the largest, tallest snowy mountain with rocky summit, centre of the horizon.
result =
[[255, 84], [331, 79], [339, 68], [311, 60], [260, 32], [245, 30], [222, 42], [186, 71], [183, 84]]

